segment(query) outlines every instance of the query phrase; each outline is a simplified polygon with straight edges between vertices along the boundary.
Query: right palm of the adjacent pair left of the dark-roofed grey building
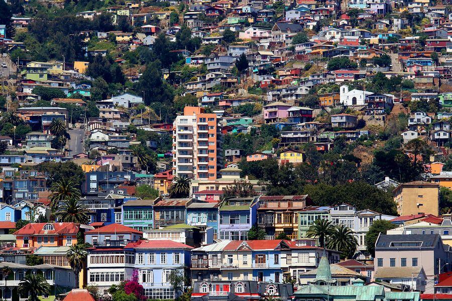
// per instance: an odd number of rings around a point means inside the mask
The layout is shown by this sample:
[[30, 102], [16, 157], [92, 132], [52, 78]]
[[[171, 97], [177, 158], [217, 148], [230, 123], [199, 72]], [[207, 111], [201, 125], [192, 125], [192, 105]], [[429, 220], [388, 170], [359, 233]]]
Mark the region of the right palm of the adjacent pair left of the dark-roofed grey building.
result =
[[341, 252], [341, 258], [352, 257], [357, 245], [358, 239], [352, 229], [342, 224], [333, 227], [327, 243], [328, 248]]

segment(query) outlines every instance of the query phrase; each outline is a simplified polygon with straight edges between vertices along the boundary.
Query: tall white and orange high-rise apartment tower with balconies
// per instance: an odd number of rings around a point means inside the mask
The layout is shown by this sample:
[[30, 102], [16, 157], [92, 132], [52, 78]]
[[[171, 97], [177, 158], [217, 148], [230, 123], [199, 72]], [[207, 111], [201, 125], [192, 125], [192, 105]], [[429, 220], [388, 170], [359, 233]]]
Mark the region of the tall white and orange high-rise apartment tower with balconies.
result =
[[201, 107], [185, 107], [174, 120], [173, 174], [194, 180], [214, 180], [219, 176], [222, 148], [216, 114]]

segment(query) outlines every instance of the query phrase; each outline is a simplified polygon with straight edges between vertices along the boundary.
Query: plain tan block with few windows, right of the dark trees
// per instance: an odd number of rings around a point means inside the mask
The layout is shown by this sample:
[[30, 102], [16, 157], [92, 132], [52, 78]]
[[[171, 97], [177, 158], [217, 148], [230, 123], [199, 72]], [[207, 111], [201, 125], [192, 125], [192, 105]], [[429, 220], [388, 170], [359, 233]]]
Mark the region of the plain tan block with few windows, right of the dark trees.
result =
[[425, 213], [438, 216], [438, 184], [414, 181], [399, 185], [393, 192], [398, 214], [410, 215]]

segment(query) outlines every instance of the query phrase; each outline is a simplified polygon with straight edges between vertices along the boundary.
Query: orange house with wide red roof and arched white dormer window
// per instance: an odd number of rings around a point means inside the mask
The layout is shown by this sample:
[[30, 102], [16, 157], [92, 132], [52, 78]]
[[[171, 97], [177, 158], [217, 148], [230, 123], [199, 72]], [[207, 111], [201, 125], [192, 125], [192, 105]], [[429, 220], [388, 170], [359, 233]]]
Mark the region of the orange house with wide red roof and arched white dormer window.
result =
[[32, 223], [13, 234], [18, 248], [34, 249], [76, 245], [79, 230], [80, 224], [76, 223]]

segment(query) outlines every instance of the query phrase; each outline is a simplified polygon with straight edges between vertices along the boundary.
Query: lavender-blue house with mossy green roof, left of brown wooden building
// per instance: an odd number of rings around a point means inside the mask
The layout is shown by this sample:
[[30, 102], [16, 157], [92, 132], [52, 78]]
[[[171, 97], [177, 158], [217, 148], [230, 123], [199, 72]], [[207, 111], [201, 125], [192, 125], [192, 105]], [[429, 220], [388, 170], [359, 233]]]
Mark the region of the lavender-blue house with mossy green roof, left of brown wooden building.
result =
[[257, 222], [259, 197], [230, 198], [218, 206], [219, 239], [246, 240], [247, 233]]

